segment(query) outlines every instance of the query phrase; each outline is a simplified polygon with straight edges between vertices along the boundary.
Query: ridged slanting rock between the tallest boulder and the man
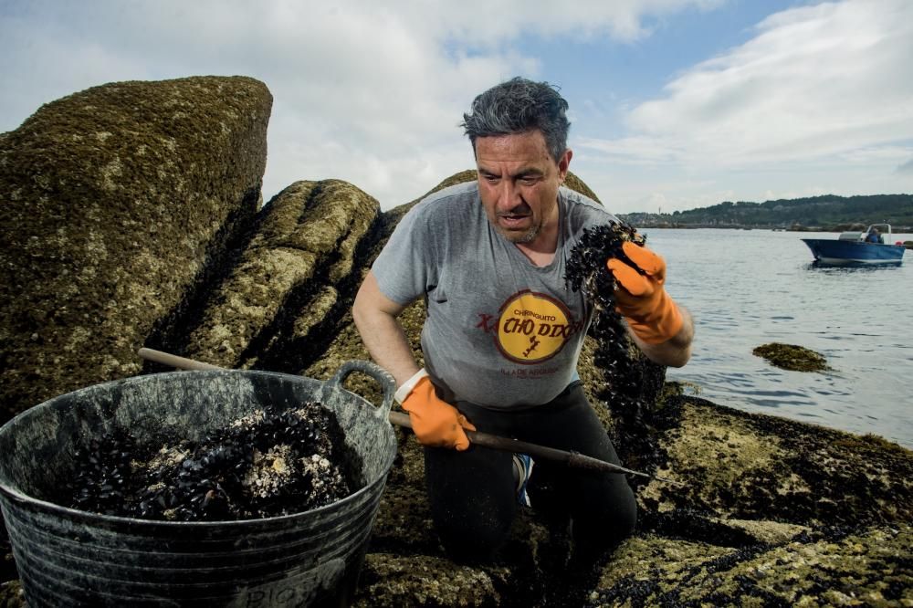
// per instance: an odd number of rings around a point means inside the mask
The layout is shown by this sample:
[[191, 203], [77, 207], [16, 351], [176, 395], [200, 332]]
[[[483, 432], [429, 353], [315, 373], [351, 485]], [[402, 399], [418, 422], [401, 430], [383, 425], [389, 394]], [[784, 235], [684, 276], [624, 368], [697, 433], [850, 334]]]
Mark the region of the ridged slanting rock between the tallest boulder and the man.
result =
[[379, 208], [339, 180], [289, 185], [205, 303], [155, 346], [227, 368], [299, 372], [351, 307], [359, 246]]

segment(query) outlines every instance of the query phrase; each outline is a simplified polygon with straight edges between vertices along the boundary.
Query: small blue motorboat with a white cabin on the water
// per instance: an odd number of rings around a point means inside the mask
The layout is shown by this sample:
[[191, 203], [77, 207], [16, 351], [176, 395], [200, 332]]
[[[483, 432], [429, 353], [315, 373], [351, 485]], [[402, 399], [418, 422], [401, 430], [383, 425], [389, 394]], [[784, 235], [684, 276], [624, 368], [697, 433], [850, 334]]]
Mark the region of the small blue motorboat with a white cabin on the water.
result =
[[[866, 238], [876, 228], [880, 234], [877, 242]], [[803, 238], [812, 250], [814, 261], [826, 266], [862, 264], [900, 264], [906, 250], [902, 244], [891, 243], [891, 225], [873, 224], [865, 232], [844, 232], [836, 239]]]

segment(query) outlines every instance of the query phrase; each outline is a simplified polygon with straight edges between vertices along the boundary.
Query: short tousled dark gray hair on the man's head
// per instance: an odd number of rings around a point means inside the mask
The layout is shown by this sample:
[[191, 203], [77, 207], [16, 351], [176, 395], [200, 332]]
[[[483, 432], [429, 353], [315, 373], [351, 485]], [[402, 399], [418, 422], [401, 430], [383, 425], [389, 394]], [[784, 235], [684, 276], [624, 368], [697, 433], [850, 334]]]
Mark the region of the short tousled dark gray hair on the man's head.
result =
[[473, 152], [479, 137], [541, 131], [555, 162], [567, 150], [568, 102], [548, 82], [509, 79], [478, 95], [460, 124], [466, 130]]

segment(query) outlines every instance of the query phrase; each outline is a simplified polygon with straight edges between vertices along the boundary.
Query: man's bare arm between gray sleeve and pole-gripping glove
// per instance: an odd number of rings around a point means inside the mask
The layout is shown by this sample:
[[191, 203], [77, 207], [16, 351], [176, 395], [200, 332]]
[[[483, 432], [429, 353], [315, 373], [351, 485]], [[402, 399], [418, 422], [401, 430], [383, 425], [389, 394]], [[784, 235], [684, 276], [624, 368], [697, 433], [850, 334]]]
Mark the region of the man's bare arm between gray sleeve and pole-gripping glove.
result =
[[412, 347], [403, 326], [396, 320], [404, 309], [403, 305], [383, 295], [373, 271], [368, 271], [355, 296], [352, 319], [371, 358], [393, 374], [397, 387], [418, 372]]

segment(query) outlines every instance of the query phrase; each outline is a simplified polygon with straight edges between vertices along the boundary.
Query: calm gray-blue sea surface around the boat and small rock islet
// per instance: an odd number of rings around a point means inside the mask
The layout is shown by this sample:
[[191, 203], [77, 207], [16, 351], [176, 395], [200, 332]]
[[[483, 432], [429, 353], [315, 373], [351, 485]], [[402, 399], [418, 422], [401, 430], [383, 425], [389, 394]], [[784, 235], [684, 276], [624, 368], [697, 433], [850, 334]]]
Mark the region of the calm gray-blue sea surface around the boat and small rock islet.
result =
[[[835, 233], [641, 232], [697, 321], [691, 361], [668, 379], [717, 404], [913, 448], [913, 250], [899, 267], [821, 268], [800, 238]], [[751, 354], [768, 342], [817, 351], [834, 371], [775, 368]]]

